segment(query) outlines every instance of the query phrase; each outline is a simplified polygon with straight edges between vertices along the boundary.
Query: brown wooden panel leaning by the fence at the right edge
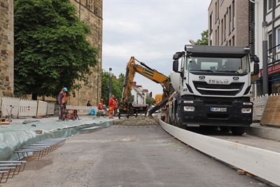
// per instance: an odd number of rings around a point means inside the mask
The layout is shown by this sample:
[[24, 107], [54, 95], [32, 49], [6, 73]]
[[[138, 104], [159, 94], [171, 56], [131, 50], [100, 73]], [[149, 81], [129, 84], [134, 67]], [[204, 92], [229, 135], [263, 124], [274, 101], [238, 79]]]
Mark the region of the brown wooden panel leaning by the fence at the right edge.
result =
[[260, 124], [280, 127], [280, 95], [269, 96]]

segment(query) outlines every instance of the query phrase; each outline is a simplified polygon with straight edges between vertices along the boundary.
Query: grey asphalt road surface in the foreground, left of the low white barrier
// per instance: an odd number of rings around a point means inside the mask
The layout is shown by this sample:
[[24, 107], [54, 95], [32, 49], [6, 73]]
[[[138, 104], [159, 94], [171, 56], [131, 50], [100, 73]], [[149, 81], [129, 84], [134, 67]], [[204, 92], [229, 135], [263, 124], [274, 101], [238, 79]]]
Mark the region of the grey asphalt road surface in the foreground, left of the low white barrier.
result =
[[112, 126], [67, 139], [0, 186], [268, 186], [174, 139], [160, 125]]

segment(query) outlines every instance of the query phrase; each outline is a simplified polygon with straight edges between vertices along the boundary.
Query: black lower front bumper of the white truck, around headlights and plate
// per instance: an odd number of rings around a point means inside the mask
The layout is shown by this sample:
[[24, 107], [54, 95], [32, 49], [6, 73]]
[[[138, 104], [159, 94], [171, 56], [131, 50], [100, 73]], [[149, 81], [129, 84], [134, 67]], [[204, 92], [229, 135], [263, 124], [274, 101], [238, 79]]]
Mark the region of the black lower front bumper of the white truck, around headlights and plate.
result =
[[[195, 100], [193, 103], [181, 101], [179, 106], [180, 120], [183, 125], [223, 125], [248, 127], [252, 123], [253, 103], [243, 101], [204, 102]], [[231, 103], [231, 104], [230, 104]], [[195, 106], [195, 111], [186, 111], [184, 106]], [[251, 109], [250, 113], [242, 113], [241, 109]], [[218, 111], [221, 110], [221, 111]]]

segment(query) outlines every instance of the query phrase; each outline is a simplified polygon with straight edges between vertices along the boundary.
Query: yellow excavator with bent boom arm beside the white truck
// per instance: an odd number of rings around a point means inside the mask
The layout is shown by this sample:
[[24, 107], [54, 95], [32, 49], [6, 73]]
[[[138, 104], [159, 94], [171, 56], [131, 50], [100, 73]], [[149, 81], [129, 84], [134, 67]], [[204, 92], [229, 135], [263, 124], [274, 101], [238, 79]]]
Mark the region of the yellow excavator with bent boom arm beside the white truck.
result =
[[[139, 62], [139, 64], [137, 64], [136, 62]], [[125, 72], [123, 96], [122, 100], [120, 101], [118, 118], [120, 118], [120, 116], [127, 116], [127, 118], [129, 118], [129, 116], [137, 117], [138, 113], [145, 113], [146, 115], [148, 112], [148, 105], [132, 105], [132, 102], [130, 102], [132, 84], [136, 73], [145, 76], [146, 78], [150, 79], [151, 81], [154, 81], [155, 83], [160, 83], [163, 88], [163, 95], [165, 95], [166, 98], [169, 97], [171, 86], [169, 78], [164, 74], [161, 74], [160, 72], [156, 71], [155, 69], [151, 69], [151, 67], [148, 67], [144, 62], [140, 62], [134, 57], [131, 57], [130, 61], [127, 63], [127, 68]]]

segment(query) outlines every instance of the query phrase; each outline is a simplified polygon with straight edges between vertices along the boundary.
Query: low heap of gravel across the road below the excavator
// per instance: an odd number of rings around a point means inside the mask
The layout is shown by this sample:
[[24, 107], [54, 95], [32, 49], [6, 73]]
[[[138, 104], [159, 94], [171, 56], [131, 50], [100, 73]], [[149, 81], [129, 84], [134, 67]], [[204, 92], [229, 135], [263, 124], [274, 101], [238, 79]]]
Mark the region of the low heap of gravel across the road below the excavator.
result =
[[158, 116], [130, 116], [130, 118], [122, 117], [118, 120], [114, 120], [114, 125], [158, 125]]

